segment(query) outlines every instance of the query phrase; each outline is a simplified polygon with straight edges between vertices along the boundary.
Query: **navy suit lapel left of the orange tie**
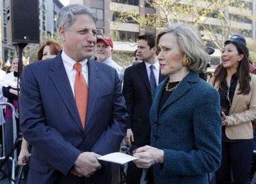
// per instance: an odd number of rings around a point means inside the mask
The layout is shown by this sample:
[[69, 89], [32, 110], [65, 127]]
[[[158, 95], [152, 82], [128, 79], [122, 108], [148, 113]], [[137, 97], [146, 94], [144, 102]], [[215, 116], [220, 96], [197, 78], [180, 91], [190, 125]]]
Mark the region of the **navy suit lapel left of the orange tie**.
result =
[[51, 81], [53, 81], [56, 90], [62, 98], [65, 107], [68, 109], [72, 118], [74, 119], [75, 124], [81, 130], [83, 130], [83, 128], [81, 127], [81, 120], [78, 114], [78, 109], [76, 107], [76, 102], [74, 100], [73, 91], [69, 84], [69, 79], [67, 77], [67, 73], [65, 72], [65, 68], [62, 62], [61, 54], [58, 54], [58, 56], [55, 57], [55, 60], [53, 60], [53, 62], [51, 63], [51, 70]]

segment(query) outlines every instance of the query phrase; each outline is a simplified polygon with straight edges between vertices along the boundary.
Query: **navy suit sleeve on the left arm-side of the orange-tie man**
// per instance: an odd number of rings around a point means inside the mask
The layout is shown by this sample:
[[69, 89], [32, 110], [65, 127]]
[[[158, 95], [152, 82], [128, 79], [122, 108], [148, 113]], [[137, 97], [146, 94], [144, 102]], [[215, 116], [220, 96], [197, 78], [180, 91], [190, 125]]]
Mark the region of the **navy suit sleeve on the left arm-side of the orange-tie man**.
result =
[[65, 141], [55, 128], [47, 125], [40, 88], [30, 66], [22, 72], [21, 85], [20, 128], [24, 139], [41, 153], [47, 164], [68, 174], [80, 151]]

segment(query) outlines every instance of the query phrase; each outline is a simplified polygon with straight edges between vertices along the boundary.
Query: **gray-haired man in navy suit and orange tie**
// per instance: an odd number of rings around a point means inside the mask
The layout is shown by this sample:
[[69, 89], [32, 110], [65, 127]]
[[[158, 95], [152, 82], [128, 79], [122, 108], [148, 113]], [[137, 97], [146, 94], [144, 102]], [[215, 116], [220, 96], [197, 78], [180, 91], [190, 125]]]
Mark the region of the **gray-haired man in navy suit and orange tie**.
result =
[[111, 183], [110, 164], [97, 157], [119, 151], [126, 132], [121, 83], [113, 68], [89, 59], [96, 43], [89, 8], [65, 6], [57, 26], [62, 52], [21, 77], [21, 131], [32, 146], [28, 183]]

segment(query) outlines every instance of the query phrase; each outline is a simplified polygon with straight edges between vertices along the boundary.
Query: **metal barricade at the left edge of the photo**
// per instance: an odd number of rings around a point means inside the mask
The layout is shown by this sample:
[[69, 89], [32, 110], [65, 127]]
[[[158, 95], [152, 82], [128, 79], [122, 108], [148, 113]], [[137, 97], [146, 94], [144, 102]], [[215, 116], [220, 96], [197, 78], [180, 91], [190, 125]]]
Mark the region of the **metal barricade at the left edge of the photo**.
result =
[[[17, 112], [15, 111], [15, 107], [10, 104], [10, 103], [0, 103], [0, 106], [9, 106], [12, 109], [12, 124], [13, 124], [13, 149], [15, 149], [16, 144], [17, 144], [17, 127], [16, 127], [16, 116], [18, 115]], [[8, 155], [10, 155], [9, 158], [7, 158], [5, 155], [5, 148], [4, 148], [4, 123], [3, 123], [3, 144], [2, 144], [2, 149], [3, 149], [3, 157], [0, 157], [0, 160], [3, 162], [1, 163], [1, 167], [0, 169], [2, 169], [3, 165], [6, 164], [4, 162], [6, 162], [7, 160], [12, 160], [12, 184], [15, 183], [15, 168], [17, 166], [17, 149], [15, 149], [13, 151], [13, 154], [10, 153]], [[12, 156], [13, 155], [13, 156]]]

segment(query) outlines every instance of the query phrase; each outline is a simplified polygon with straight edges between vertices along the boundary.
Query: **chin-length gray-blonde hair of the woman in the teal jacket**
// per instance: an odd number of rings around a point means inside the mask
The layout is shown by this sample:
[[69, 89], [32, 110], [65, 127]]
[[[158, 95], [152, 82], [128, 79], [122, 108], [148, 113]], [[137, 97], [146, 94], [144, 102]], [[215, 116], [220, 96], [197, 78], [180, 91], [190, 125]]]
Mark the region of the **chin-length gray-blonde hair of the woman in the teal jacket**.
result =
[[201, 34], [194, 26], [187, 24], [172, 24], [157, 35], [157, 45], [160, 38], [166, 33], [173, 33], [177, 36], [178, 45], [182, 52], [188, 57], [187, 68], [193, 72], [201, 72], [210, 61], [206, 47], [201, 40]]

